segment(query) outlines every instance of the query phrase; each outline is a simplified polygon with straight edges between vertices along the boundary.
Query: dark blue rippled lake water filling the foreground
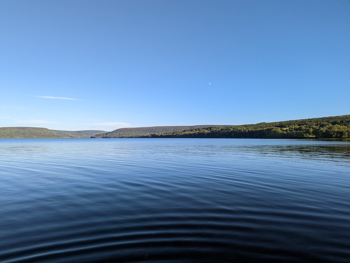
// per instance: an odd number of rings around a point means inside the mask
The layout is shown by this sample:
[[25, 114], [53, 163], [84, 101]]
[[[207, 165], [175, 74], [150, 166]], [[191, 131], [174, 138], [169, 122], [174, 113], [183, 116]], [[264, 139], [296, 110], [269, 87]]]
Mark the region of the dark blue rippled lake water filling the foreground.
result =
[[350, 142], [0, 139], [0, 261], [350, 262]]

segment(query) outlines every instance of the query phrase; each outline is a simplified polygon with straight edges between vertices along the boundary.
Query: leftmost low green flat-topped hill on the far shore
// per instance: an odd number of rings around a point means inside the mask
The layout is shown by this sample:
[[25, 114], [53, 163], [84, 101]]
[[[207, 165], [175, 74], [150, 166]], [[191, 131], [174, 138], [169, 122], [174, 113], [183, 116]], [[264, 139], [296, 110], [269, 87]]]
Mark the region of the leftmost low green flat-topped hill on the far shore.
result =
[[57, 133], [37, 127], [0, 127], [0, 138], [63, 138]]

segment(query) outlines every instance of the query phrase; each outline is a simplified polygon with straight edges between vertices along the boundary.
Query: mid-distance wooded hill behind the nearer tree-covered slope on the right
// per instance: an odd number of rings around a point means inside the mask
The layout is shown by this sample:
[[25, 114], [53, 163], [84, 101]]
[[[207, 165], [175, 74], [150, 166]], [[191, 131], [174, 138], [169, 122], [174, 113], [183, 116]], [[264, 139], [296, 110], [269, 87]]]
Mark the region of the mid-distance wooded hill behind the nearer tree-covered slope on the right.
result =
[[198, 129], [212, 126], [227, 126], [227, 125], [195, 125], [195, 126], [154, 126], [154, 127], [135, 127], [135, 128], [120, 128], [111, 132], [100, 133], [91, 138], [133, 138], [148, 136], [154, 133], [165, 133], [173, 131], [182, 131], [187, 129]]

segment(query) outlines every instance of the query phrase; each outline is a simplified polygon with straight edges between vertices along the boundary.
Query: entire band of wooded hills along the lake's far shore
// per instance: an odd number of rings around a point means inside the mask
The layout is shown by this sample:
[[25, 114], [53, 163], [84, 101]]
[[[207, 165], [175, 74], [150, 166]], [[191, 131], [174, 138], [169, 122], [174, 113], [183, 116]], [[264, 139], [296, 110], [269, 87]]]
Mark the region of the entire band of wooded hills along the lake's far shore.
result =
[[121, 128], [112, 132], [0, 127], [0, 138], [89, 138], [91, 135], [94, 135], [91, 138], [348, 139], [350, 138], [350, 115], [231, 126], [135, 127]]

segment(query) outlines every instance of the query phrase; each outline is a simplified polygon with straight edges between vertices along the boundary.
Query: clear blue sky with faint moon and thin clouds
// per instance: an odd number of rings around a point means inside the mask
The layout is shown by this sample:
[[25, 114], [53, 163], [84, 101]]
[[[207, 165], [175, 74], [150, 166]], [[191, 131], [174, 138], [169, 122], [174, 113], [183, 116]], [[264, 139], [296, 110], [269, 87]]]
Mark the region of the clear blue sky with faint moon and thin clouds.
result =
[[348, 0], [2, 0], [0, 127], [350, 114]]

